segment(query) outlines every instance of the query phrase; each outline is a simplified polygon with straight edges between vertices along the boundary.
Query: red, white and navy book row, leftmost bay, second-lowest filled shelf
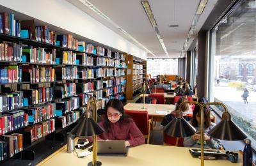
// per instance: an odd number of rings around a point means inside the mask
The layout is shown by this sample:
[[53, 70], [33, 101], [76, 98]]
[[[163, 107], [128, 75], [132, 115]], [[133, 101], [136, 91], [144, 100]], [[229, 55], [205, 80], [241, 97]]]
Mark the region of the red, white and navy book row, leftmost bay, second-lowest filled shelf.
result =
[[28, 125], [28, 114], [24, 110], [3, 112], [0, 116], [0, 135]]

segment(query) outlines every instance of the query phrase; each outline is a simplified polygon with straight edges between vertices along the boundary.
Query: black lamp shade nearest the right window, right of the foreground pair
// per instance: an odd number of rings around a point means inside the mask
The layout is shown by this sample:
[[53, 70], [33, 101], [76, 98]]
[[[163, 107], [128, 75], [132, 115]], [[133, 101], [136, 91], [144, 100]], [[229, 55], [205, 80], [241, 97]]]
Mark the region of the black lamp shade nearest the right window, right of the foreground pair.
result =
[[243, 140], [247, 135], [233, 121], [221, 120], [209, 132], [209, 135], [220, 140]]

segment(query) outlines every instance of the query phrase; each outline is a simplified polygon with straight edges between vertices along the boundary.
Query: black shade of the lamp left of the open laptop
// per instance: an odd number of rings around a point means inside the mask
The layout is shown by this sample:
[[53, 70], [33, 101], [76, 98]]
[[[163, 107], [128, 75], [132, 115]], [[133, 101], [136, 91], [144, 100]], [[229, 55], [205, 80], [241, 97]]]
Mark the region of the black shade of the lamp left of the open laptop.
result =
[[104, 129], [97, 124], [92, 117], [80, 117], [78, 124], [71, 130], [71, 133], [76, 136], [93, 136], [100, 135]]

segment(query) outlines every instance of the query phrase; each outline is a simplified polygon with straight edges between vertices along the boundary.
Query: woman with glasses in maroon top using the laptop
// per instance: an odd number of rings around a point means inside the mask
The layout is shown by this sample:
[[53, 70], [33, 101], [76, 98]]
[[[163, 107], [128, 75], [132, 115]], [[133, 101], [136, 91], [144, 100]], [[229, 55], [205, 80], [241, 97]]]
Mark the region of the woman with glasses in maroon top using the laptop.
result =
[[133, 119], [125, 114], [123, 103], [118, 99], [109, 100], [99, 125], [105, 132], [99, 135], [98, 140], [125, 140], [126, 147], [145, 143], [142, 133]]

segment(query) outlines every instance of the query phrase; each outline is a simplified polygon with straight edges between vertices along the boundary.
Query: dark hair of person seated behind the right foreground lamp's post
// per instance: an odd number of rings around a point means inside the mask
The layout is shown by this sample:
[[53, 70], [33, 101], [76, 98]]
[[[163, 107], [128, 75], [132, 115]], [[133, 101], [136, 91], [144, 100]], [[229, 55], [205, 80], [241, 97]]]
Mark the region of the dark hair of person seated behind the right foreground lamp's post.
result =
[[[193, 110], [193, 117], [192, 117], [192, 126], [199, 127], [196, 121], [196, 114], [200, 114], [200, 107], [198, 105], [195, 106]], [[211, 126], [211, 112], [209, 107], [204, 108], [204, 128], [207, 129]]]

